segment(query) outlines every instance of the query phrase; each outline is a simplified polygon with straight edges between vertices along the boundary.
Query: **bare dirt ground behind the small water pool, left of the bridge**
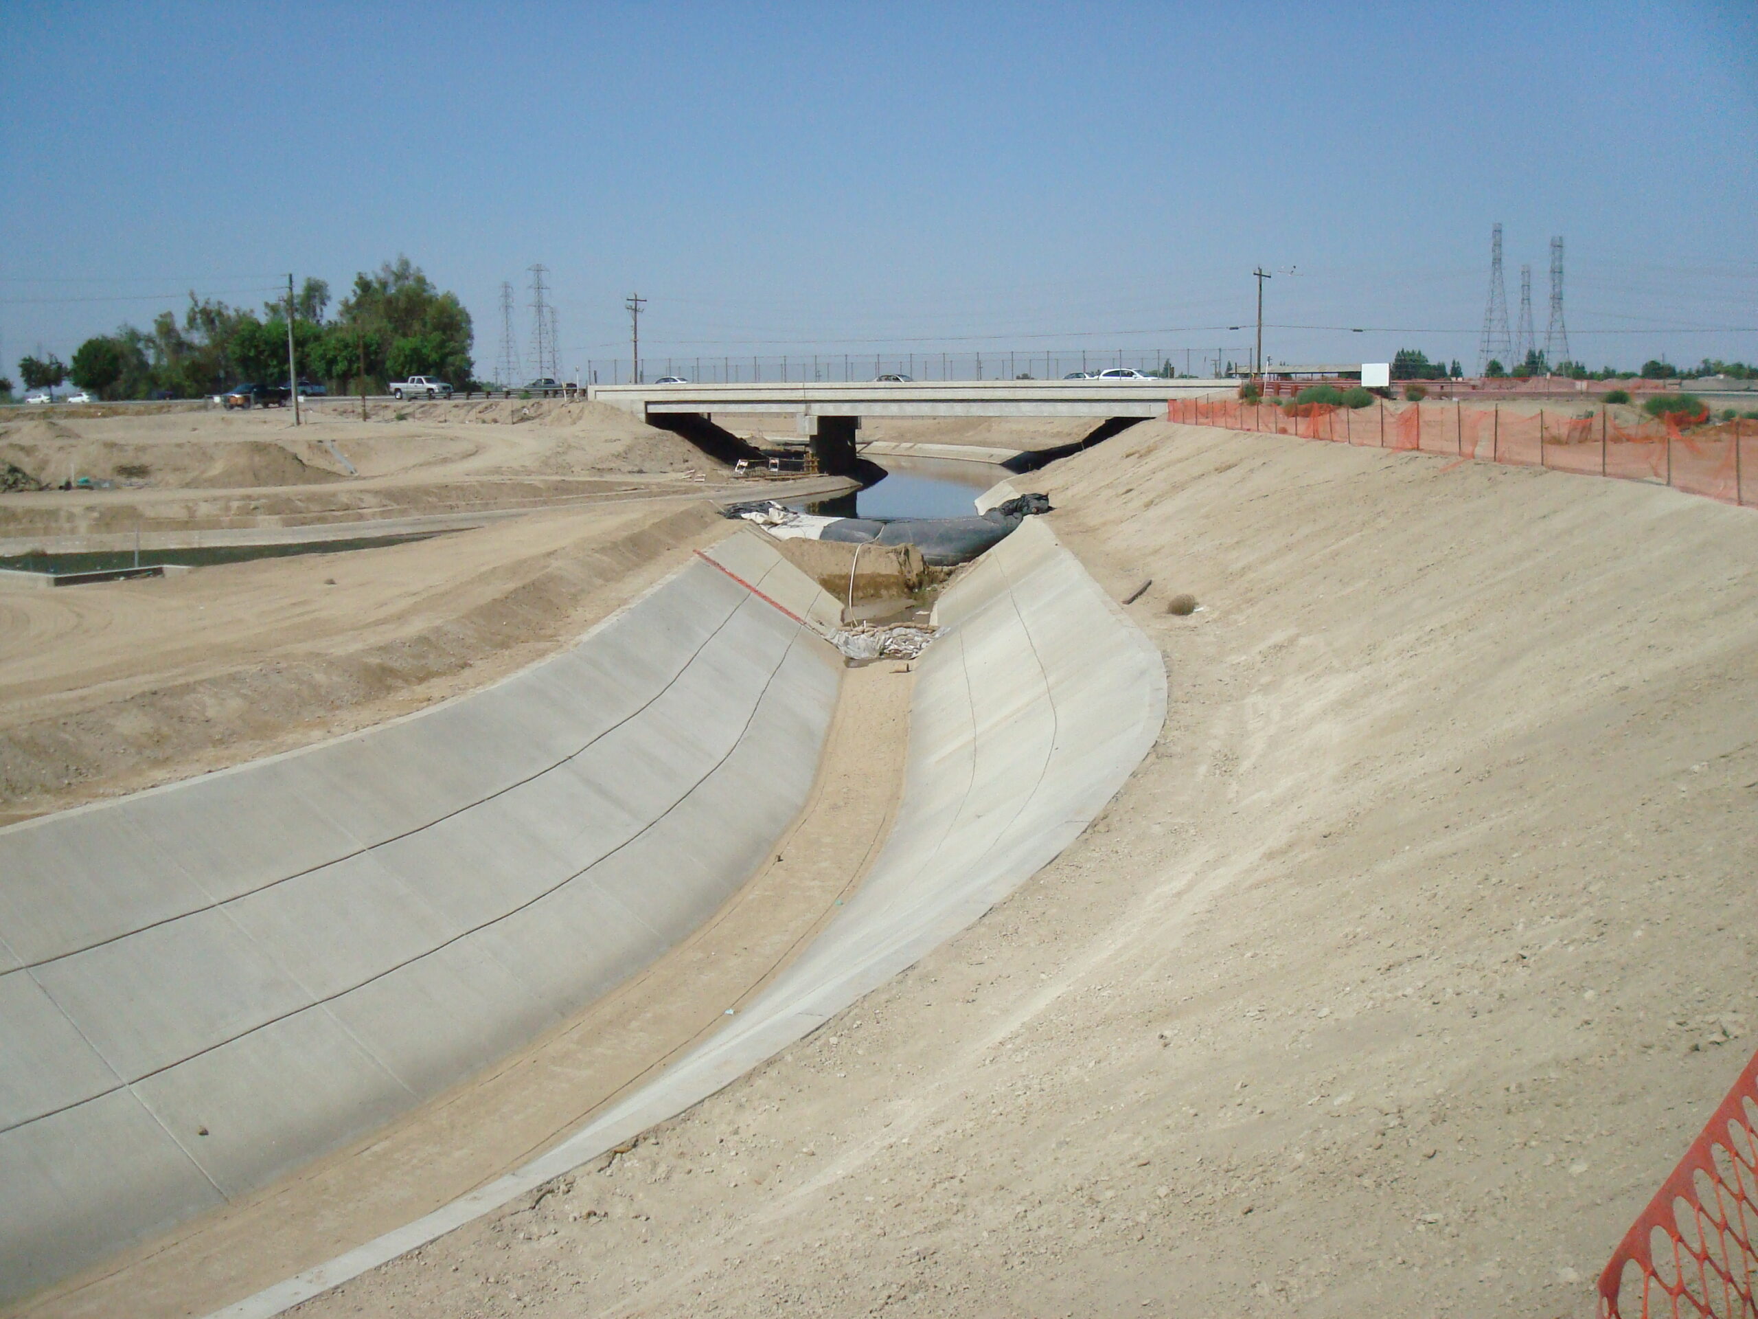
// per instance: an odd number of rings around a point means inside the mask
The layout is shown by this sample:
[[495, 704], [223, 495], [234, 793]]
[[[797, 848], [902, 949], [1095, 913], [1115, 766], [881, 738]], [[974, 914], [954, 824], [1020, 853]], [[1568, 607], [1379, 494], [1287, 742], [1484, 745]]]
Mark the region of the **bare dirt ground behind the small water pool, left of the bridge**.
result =
[[[540, 412], [522, 420], [519, 408]], [[679, 436], [596, 403], [373, 404], [373, 417], [331, 401], [299, 427], [280, 408], [16, 419], [0, 424], [0, 471], [114, 489], [4, 494], [0, 540], [526, 508], [726, 475]]]

